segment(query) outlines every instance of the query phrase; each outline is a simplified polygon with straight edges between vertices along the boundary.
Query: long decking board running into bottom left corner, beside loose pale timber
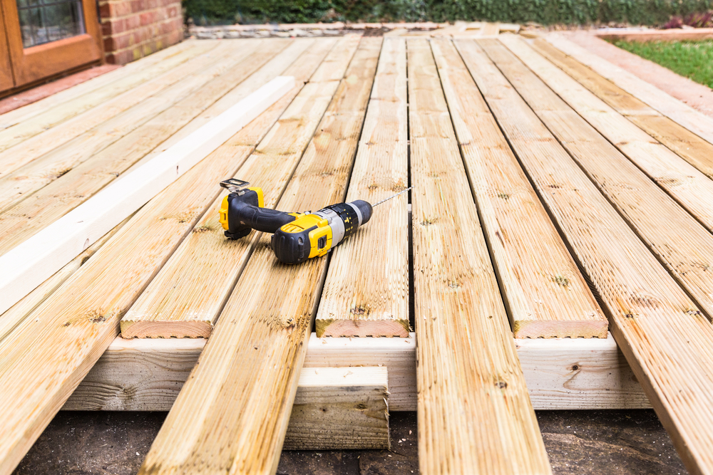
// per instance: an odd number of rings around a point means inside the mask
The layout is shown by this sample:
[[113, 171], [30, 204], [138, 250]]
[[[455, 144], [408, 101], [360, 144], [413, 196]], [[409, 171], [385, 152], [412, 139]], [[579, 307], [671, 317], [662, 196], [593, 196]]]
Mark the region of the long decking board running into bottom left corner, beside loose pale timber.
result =
[[[257, 145], [275, 104], [227, 142]], [[246, 154], [247, 155], [247, 154]], [[119, 320], [239, 166], [222, 148], [158, 194], [0, 342], [0, 474], [10, 474], [118, 335]], [[31, 349], [31, 350], [29, 350]], [[12, 383], [10, 383], [12, 381]]]

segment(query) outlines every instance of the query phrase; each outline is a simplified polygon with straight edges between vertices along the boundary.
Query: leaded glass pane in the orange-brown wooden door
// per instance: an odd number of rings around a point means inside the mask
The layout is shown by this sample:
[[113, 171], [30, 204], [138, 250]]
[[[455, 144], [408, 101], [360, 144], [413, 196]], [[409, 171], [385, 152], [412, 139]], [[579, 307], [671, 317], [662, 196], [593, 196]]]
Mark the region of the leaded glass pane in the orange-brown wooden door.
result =
[[16, 1], [23, 48], [86, 33], [81, 0]]

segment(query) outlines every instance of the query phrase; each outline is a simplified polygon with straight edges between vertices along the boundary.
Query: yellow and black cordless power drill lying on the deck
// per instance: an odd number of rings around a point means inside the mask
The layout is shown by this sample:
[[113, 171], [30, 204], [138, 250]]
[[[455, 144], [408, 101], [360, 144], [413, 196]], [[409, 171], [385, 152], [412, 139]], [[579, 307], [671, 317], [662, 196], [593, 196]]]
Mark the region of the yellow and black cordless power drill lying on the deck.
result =
[[220, 207], [220, 224], [225, 229], [225, 236], [240, 239], [252, 229], [274, 233], [270, 241], [272, 251], [284, 263], [296, 264], [324, 256], [371, 218], [373, 207], [362, 199], [330, 204], [314, 213], [287, 213], [265, 208], [262, 189], [247, 188], [248, 184], [235, 178], [220, 182], [221, 187], [230, 191]]

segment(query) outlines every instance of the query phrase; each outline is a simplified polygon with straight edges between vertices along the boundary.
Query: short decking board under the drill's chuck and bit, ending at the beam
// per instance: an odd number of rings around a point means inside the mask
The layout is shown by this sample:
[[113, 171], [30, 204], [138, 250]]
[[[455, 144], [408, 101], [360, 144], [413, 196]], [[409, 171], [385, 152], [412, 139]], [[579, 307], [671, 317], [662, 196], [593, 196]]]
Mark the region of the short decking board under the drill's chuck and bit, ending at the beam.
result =
[[[408, 187], [406, 41], [386, 39], [371, 89], [347, 202], [370, 203]], [[315, 325], [317, 336], [409, 336], [408, 195], [374, 209], [369, 223], [334, 249]]]

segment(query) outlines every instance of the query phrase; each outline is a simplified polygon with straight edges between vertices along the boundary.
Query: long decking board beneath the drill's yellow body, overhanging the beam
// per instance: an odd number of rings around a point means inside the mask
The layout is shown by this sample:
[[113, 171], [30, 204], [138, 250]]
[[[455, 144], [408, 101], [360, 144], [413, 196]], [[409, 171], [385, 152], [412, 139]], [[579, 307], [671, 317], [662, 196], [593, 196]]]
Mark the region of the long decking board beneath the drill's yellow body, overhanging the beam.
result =
[[[279, 209], [344, 198], [380, 46], [361, 41]], [[280, 264], [261, 237], [140, 474], [275, 472], [326, 266]]]

